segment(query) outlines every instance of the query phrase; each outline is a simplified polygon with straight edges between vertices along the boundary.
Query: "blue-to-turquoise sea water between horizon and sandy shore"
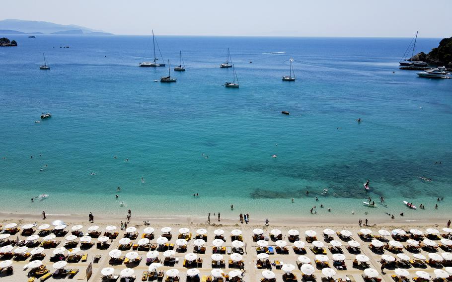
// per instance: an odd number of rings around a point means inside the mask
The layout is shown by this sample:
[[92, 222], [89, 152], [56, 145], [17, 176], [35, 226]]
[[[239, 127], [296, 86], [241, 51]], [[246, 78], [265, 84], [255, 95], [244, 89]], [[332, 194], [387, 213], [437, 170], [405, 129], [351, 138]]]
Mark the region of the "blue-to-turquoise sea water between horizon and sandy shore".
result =
[[[138, 67], [151, 56], [149, 37], [9, 37], [19, 47], [0, 49], [0, 211], [451, 213], [444, 202], [433, 207], [452, 196], [452, 79], [398, 70], [410, 39], [161, 36], [165, 60], [176, 63], [182, 49], [187, 67], [162, 84], [154, 80], [167, 69]], [[418, 50], [438, 42], [419, 39]], [[231, 69], [214, 68], [226, 47], [239, 89], [222, 86]], [[42, 52], [50, 71], [39, 70]], [[290, 57], [293, 83], [281, 80]], [[35, 124], [41, 112], [52, 118]], [[43, 193], [50, 196], [31, 203]], [[387, 208], [361, 204], [380, 195]], [[427, 210], [409, 211], [405, 199]], [[332, 212], [311, 215], [320, 204]]]

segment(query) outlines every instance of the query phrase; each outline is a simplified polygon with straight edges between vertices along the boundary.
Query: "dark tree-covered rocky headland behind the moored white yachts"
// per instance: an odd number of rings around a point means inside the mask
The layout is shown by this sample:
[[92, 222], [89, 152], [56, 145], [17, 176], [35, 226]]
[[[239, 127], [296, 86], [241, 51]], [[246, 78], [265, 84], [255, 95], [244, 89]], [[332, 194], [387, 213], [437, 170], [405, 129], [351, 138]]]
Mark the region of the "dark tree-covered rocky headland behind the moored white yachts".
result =
[[452, 37], [441, 40], [439, 46], [433, 48], [429, 54], [418, 53], [411, 57], [410, 61], [423, 61], [431, 65], [452, 68]]

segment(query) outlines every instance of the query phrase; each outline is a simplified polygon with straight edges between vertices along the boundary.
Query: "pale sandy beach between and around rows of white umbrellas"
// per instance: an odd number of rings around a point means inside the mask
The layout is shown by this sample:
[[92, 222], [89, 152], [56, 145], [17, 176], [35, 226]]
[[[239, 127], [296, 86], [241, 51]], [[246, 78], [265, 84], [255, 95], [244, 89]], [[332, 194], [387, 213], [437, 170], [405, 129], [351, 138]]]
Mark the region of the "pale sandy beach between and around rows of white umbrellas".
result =
[[[100, 274], [100, 270], [106, 267], [113, 267], [115, 272], [115, 275], [119, 275], [119, 273], [121, 272], [121, 270], [125, 269], [126, 266], [124, 264], [121, 265], [114, 265], [111, 266], [109, 264], [109, 252], [113, 249], [117, 249], [119, 246], [119, 240], [124, 236], [125, 231], [119, 230], [120, 227], [120, 221], [123, 220], [124, 218], [114, 218], [114, 219], [107, 219], [107, 218], [98, 218], [95, 217], [94, 219], [94, 223], [89, 223], [87, 220], [87, 216], [86, 217], [81, 217], [81, 216], [62, 216], [62, 215], [47, 215], [47, 219], [46, 220], [42, 220], [40, 215], [24, 215], [24, 214], [1, 214], [1, 224], [4, 228], [4, 226], [7, 223], [11, 223], [11, 222], [15, 222], [17, 223], [17, 227], [20, 227], [26, 223], [33, 223], [36, 222], [37, 226], [44, 224], [44, 223], [48, 223], [50, 224], [53, 220], [56, 219], [60, 219], [63, 220], [66, 224], [67, 227], [65, 228], [65, 230], [68, 230], [68, 234], [71, 234], [71, 227], [74, 225], [83, 225], [83, 228], [80, 230], [84, 233], [87, 233], [87, 228], [91, 225], [98, 225], [99, 226], [99, 231], [100, 232], [104, 232], [105, 231], [105, 227], [107, 225], [115, 225], [118, 227], [118, 229], [116, 231], [119, 232], [119, 236], [112, 241], [111, 246], [106, 249], [106, 250], [99, 250], [96, 248], [96, 245], [94, 245], [92, 248], [88, 249], [88, 250], [82, 250], [80, 252], [80, 254], [87, 254], [87, 261], [86, 262], [77, 262], [77, 263], [68, 263], [66, 269], [74, 269], [77, 268], [79, 269], [79, 273], [76, 274], [76, 276], [73, 279], [58, 279], [59, 281], [74, 281], [74, 280], [86, 280], [86, 268], [88, 267], [88, 264], [90, 262], [93, 261], [93, 258], [96, 255], [101, 255], [101, 258], [99, 260], [98, 263], [93, 263], [92, 264], [92, 277], [90, 278], [89, 281], [101, 281], [101, 277], [102, 275]], [[314, 259], [315, 259], [315, 254], [309, 249], [310, 247], [312, 247], [311, 243], [307, 243], [305, 240], [305, 236], [304, 236], [304, 232], [306, 230], [313, 230], [317, 233], [316, 237], [319, 241], [323, 242], [325, 245], [325, 250], [327, 250], [326, 255], [328, 256], [328, 263], [329, 266], [331, 268], [334, 269], [333, 267], [333, 261], [332, 261], [332, 254], [331, 252], [327, 249], [328, 247], [331, 246], [330, 243], [327, 243], [326, 241], [324, 241], [323, 238], [323, 229], [325, 228], [330, 228], [333, 229], [336, 232], [339, 232], [343, 229], [349, 230], [352, 232], [352, 236], [351, 238], [353, 240], [356, 240], [360, 243], [360, 249], [361, 249], [361, 254], [364, 254], [366, 256], [368, 256], [370, 258], [370, 261], [368, 262], [369, 266], [371, 268], [374, 268], [378, 271], [379, 276], [378, 278], [382, 279], [383, 281], [392, 281], [391, 279], [391, 275], [394, 274], [393, 270], [385, 270], [385, 275], [382, 275], [380, 272], [380, 267], [381, 267], [381, 263], [379, 262], [379, 260], [381, 260], [381, 256], [378, 254], [373, 253], [369, 248], [368, 245], [370, 244], [370, 242], [365, 242], [363, 240], [361, 240], [361, 238], [357, 235], [358, 232], [360, 231], [361, 228], [369, 228], [373, 231], [373, 235], [378, 235], [378, 230], [380, 229], [385, 229], [388, 231], [391, 231], [393, 229], [403, 229], [403, 230], [410, 230], [412, 228], [416, 228], [419, 230], [422, 230], [425, 234], [425, 230], [426, 228], [436, 228], [438, 230], [441, 231], [441, 229], [443, 227], [446, 227], [446, 220], [443, 220], [444, 222], [440, 222], [440, 221], [422, 221], [422, 222], [386, 222], [386, 223], [374, 223], [374, 222], [369, 222], [369, 226], [367, 227], [360, 227], [357, 223], [355, 224], [348, 224], [348, 223], [325, 223], [325, 222], [303, 222], [303, 219], [300, 219], [299, 221], [295, 220], [292, 221], [290, 220], [290, 222], [287, 222], [284, 220], [284, 218], [281, 218], [279, 220], [274, 220], [274, 221], [270, 221], [269, 226], [265, 226], [263, 221], [259, 221], [259, 222], [255, 222], [255, 220], [253, 220], [252, 217], [250, 217], [250, 223], [249, 224], [240, 224], [238, 222], [238, 220], [231, 220], [231, 219], [223, 219], [221, 222], [217, 221], [217, 217], [215, 216], [211, 216], [211, 224], [206, 224], [205, 223], [206, 219], [201, 219], [201, 218], [190, 218], [190, 217], [186, 217], [186, 218], [160, 218], [160, 219], [152, 219], [150, 220], [150, 226], [153, 227], [155, 229], [154, 235], [155, 238], [151, 240], [151, 244], [155, 243], [156, 238], [158, 238], [162, 232], [160, 231], [160, 229], [162, 227], [165, 226], [169, 226], [172, 228], [172, 238], [171, 240], [169, 240], [169, 243], [174, 244], [175, 240], [177, 239], [177, 234], [178, 234], [178, 230], [179, 228], [182, 227], [186, 227], [190, 229], [190, 232], [193, 233], [193, 238], [191, 240], [188, 241], [187, 243], [187, 251], [184, 253], [179, 253], [176, 252], [176, 254], [174, 255], [174, 257], [179, 258], [179, 262], [175, 264], [174, 267], [167, 267], [167, 266], [162, 266], [160, 267], [158, 270], [163, 270], [166, 271], [168, 269], [171, 268], [175, 268], [177, 270], [180, 271], [179, 273], [179, 277], [181, 281], [186, 281], [186, 271], [187, 268], [185, 268], [182, 265], [182, 261], [184, 260], [184, 256], [187, 253], [192, 253], [193, 252], [193, 248], [194, 248], [194, 237], [196, 234], [196, 230], [199, 228], [205, 228], [207, 230], [207, 242], [204, 245], [206, 247], [206, 252], [205, 254], [198, 254], [199, 258], [203, 259], [203, 264], [202, 267], [198, 268], [200, 271], [199, 277], [203, 277], [203, 276], [209, 276], [211, 275], [211, 255], [213, 253], [212, 251], [212, 242], [214, 240], [214, 230], [216, 229], [223, 229], [225, 231], [224, 233], [224, 237], [226, 239], [226, 242], [224, 243], [223, 246], [226, 247], [230, 247], [231, 246], [231, 238], [230, 238], [230, 232], [233, 229], [239, 229], [242, 231], [242, 237], [243, 237], [243, 243], [244, 245], [244, 253], [243, 253], [243, 262], [244, 262], [244, 269], [245, 269], [245, 273], [243, 274], [243, 281], [259, 281], [262, 278], [262, 269], [257, 269], [256, 266], [256, 260], [257, 260], [257, 252], [256, 252], [256, 247], [258, 247], [257, 243], [253, 241], [253, 229], [255, 228], [261, 228], [263, 229], [264, 233], [263, 236], [264, 237], [269, 237], [270, 236], [270, 230], [272, 229], [280, 229], [282, 231], [282, 235], [283, 238], [282, 240], [285, 240], [287, 242], [287, 248], [289, 250], [289, 254], [270, 254], [269, 256], [269, 260], [270, 262], [274, 262], [274, 261], [279, 261], [282, 264], [292, 264], [294, 266], [296, 266], [296, 269], [293, 271], [293, 273], [295, 275], [297, 275], [298, 281], [301, 281], [301, 271], [299, 269], [297, 269], [297, 262], [298, 262], [298, 257], [300, 256], [299, 254], [296, 254], [293, 250], [293, 246], [294, 244], [288, 241], [288, 230], [290, 229], [296, 229], [300, 231], [300, 240], [306, 243], [305, 249], [306, 249], [306, 254], [304, 256], [308, 257], [312, 264], [314, 264]], [[364, 221], [364, 219], [363, 219]], [[132, 243], [136, 243], [136, 241], [138, 241], [142, 234], [143, 234], [143, 230], [145, 226], [143, 224], [143, 218], [135, 218], [133, 216], [132, 213], [132, 218], [131, 218], [131, 222], [130, 224], [128, 224], [128, 227], [130, 226], [135, 226], [137, 228], [137, 232], [139, 233], [138, 238], [136, 240], [132, 240]], [[36, 229], [36, 227], [35, 227]], [[444, 233], [444, 232], [442, 232]], [[37, 231], [35, 231], [34, 234], [37, 234]], [[24, 240], [26, 237], [23, 237], [20, 235], [20, 232], [11, 236], [10, 239], [14, 239], [16, 238], [16, 235], [18, 236], [19, 240]], [[358, 270], [356, 268], [353, 268], [352, 266], [352, 262], [355, 259], [356, 254], [351, 254], [349, 253], [349, 251], [346, 249], [347, 246], [347, 241], [342, 241], [341, 239], [338, 238], [338, 236], [336, 234], [333, 235], [334, 240], [338, 240], [340, 242], [342, 242], [342, 249], [343, 249], [343, 253], [346, 257], [345, 259], [345, 265], [347, 267], [347, 270], [342, 270], [342, 271], [336, 271], [337, 275], [334, 277], [335, 279], [337, 278], [341, 278], [341, 279], [345, 279], [346, 276], [348, 278], [350, 278], [352, 281], [363, 281], [362, 278], [362, 274], [363, 274], [363, 270]], [[390, 237], [387, 237], [388, 239], [392, 240]], [[42, 239], [42, 238], [40, 238]], [[56, 238], [56, 240], [60, 240], [61, 243], [57, 246], [57, 247], [63, 247], [64, 243], [65, 243], [65, 237], [60, 237], [60, 238]], [[96, 239], [92, 239], [92, 242], [96, 243]], [[275, 242], [272, 241], [271, 239], [269, 239], [268, 241], [268, 246], [273, 246], [275, 248]], [[439, 241], [437, 241], [437, 243], [439, 243]], [[403, 243], [404, 245], [406, 245], [406, 243]], [[174, 249], [176, 249], [177, 246], [174, 247]], [[28, 250], [30, 251], [31, 248]], [[438, 249], [438, 254], [441, 254], [443, 252], [443, 250]], [[46, 257], [43, 260], [44, 265], [47, 266], [47, 269], [50, 272], [54, 272], [55, 269], [52, 268], [53, 262], [49, 261], [49, 258], [53, 255], [52, 254], [53, 249], [46, 249], [44, 251], [44, 253], [46, 254]], [[132, 249], [130, 250], [132, 251]], [[129, 251], [123, 251], [122, 255], [125, 255], [127, 252]], [[146, 254], [147, 251], [138, 251], [140, 257], [143, 258], [143, 260], [138, 264], [133, 266], [132, 268], [135, 271], [135, 276], [137, 277], [136, 281], [141, 281], [141, 277], [142, 277], [142, 273], [144, 271], [148, 271], [148, 266], [146, 265]], [[403, 253], [407, 254], [408, 256], [410, 256], [412, 258], [412, 254], [407, 252], [405, 249], [403, 249]], [[385, 254], [389, 254], [391, 256], [395, 257], [395, 254], [390, 253], [389, 251], [385, 251]], [[424, 254], [425, 256], [428, 256], [428, 252], [421, 250], [421, 254]], [[160, 255], [158, 256], [159, 259], [163, 260], [163, 256]], [[226, 260], [226, 268], [223, 268], [222, 270], [225, 272], [225, 274], [229, 273], [229, 271], [233, 270], [231, 268], [228, 268], [227, 266], [227, 260], [229, 259], [229, 255], [225, 254], [224, 255], [224, 259]], [[397, 258], [398, 259], [398, 258]], [[27, 279], [27, 274], [28, 274], [28, 269], [26, 271], [22, 270], [23, 266], [26, 265], [27, 263], [29, 263], [29, 259], [25, 260], [25, 261], [14, 261], [12, 266], [14, 268], [14, 274], [12, 276], [6, 276], [6, 277], [2, 277], [1, 281], [25, 281], [25, 279]], [[417, 268], [409, 268], [408, 271], [411, 274], [411, 277], [415, 276], [415, 271], [418, 270], [423, 270], [426, 271], [427, 273], [429, 273], [432, 277], [435, 277], [434, 274], [434, 268], [431, 268], [430, 266], [427, 267], [427, 269], [417, 269]], [[276, 280], [277, 281], [283, 281], [283, 274], [284, 271], [280, 270], [280, 269], [276, 269], [275, 267], [272, 267], [272, 271], [276, 274]], [[324, 275], [321, 272], [321, 269], [316, 269], [314, 275], [317, 278], [317, 281], [320, 281], [320, 279], [322, 277], [324, 277]], [[166, 276], [165, 276], [166, 277]], [[50, 278], [48, 281], [52, 281], [53, 278]], [[119, 281], [119, 280], [118, 280]]]

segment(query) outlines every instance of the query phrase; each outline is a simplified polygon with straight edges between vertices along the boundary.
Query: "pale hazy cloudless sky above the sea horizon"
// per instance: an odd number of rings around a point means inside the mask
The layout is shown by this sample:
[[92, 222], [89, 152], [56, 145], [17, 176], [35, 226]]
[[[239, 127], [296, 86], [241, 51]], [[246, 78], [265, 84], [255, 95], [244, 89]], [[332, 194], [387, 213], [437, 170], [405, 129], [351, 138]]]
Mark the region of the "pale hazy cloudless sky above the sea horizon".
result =
[[115, 34], [452, 36], [452, 0], [2, 0], [1, 11]]

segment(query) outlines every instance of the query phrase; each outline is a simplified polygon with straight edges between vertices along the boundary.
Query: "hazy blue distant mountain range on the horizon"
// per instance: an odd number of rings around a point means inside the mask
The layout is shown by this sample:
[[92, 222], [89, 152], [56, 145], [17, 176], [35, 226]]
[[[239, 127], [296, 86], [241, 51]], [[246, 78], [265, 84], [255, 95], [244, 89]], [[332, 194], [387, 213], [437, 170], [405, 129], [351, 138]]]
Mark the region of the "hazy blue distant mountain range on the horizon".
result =
[[95, 30], [79, 25], [62, 25], [47, 21], [20, 19], [0, 20], [0, 34], [87, 34], [111, 35], [103, 30]]

